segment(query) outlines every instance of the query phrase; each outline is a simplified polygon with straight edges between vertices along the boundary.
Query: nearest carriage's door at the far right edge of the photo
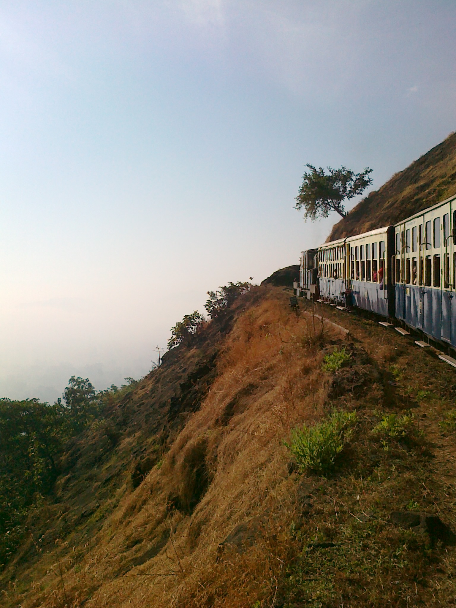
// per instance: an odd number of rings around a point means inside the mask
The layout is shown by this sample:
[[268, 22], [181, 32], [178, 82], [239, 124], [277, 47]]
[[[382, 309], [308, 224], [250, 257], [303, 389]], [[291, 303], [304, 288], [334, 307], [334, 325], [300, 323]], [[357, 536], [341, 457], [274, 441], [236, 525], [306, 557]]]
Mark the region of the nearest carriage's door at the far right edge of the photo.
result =
[[[452, 267], [453, 257], [453, 232], [454, 224], [452, 223], [451, 204], [443, 208], [442, 218], [442, 243], [441, 243], [441, 259], [442, 259], [442, 300], [441, 300], [441, 339], [445, 342], [451, 342], [451, 313], [454, 310], [453, 285], [450, 269]], [[454, 272], [454, 271], [453, 271]]]

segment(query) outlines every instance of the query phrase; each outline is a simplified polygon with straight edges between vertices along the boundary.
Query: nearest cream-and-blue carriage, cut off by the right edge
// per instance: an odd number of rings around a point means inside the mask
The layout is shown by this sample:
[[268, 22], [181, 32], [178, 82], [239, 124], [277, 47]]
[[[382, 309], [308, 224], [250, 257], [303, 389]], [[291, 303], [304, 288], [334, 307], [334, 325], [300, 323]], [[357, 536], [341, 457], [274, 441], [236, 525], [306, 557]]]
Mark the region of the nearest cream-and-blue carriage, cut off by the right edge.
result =
[[395, 225], [395, 315], [456, 347], [456, 196]]

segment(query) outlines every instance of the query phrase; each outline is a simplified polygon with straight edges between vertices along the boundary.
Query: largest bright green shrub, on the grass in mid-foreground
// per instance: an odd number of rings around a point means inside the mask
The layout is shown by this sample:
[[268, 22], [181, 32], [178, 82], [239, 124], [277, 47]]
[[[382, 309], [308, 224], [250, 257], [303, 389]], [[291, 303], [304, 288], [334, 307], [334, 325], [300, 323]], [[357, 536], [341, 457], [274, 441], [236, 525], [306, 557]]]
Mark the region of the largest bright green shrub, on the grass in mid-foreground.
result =
[[291, 443], [285, 445], [295, 457], [300, 469], [308, 469], [322, 477], [333, 472], [336, 457], [350, 441], [356, 413], [333, 411], [328, 420], [314, 426], [294, 429]]

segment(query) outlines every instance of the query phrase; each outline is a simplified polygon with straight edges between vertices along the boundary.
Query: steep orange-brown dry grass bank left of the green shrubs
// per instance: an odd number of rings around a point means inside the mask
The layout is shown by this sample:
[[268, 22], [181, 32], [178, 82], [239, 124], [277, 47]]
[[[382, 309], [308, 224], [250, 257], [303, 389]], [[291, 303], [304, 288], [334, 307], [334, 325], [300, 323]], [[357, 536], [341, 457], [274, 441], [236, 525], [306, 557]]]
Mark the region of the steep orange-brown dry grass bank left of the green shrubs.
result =
[[[274, 596], [295, 517], [283, 440], [322, 414], [322, 347], [340, 340], [320, 330], [289, 309], [285, 294], [241, 314], [218, 378], [161, 468], [126, 494], [91, 548], [60, 547], [61, 557], [48, 558], [24, 608], [235, 607]], [[244, 522], [254, 545], [221, 553]]]

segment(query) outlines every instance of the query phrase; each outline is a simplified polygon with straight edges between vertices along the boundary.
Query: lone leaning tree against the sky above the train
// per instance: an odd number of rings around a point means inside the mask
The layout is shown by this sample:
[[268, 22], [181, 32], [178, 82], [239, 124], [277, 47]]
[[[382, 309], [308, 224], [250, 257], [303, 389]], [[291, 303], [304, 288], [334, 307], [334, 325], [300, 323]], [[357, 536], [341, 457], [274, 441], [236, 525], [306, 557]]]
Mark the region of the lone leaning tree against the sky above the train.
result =
[[309, 171], [302, 176], [302, 186], [295, 198], [295, 209], [304, 208], [304, 219], [315, 221], [327, 218], [332, 211], [337, 211], [343, 218], [345, 213], [344, 201], [350, 201], [353, 196], [362, 194], [372, 183], [372, 169], [366, 167], [362, 173], [353, 173], [350, 169], [328, 167], [328, 174], [322, 167], [316, 169], [306, 165]]

